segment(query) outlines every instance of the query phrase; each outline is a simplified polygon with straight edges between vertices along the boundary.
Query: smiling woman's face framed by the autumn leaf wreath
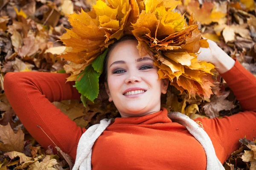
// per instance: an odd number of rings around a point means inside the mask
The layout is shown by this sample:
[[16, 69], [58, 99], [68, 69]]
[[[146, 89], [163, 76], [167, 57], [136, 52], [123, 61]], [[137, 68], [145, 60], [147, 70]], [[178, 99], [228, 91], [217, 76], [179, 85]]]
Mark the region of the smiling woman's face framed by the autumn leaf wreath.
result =
[[158, 68], [149, 55], [140, 57], [137, 40], [116, 44], [108, 58], [106, 91], [122, 117], [144, 116], [160, 111], [161, 93], [168, 80], [158, 79]]

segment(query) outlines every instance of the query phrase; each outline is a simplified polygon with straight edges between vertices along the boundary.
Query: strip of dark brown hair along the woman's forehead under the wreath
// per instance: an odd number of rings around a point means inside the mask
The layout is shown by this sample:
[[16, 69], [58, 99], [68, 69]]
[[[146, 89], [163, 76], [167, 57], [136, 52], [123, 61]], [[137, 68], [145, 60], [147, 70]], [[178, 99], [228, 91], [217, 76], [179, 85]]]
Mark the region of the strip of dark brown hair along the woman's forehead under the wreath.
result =
[[113, 44], [108, 46], [108, 53], [104, 60], [104, 67], [103, 67], [103, 72], [102, 72], [102, 76], [104, 77], [104, 82], [108, 82], [108, 58], [109, 58], [109, 55], [110, 55], [111, 51], [113, 50], [113, 48], [119, 42], [122, 42], [125, 40], [137, 40], [137, 39], [133, 35], [125, 35], [121, 39], [117, 40], [116, 42], [114, 42]]

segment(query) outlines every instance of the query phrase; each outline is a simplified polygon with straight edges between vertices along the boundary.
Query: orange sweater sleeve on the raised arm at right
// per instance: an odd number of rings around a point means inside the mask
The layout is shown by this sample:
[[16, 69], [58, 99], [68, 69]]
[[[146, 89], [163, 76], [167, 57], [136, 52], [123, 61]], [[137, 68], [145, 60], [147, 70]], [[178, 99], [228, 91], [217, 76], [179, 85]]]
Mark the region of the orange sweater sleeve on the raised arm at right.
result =
[[224, 163], [233, 151], [239, 149], [240, 138], [246, 136], [253, 141], [253, 137], [256, 137], [256, 77], [236, 58], [234, 60], [236, 63], [233, 68], [220, 75], [241, 103], [243, 112], [223, 118], [194, 119], [203, 123], [221, 163]]

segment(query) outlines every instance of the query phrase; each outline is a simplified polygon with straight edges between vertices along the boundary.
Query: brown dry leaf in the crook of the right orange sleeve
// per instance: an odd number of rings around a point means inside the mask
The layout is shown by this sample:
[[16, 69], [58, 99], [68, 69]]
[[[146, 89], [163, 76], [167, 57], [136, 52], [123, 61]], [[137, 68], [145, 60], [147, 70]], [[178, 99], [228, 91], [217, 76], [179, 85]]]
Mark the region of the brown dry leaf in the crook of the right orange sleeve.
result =
[[226, 100], [226, 97], [230, 94], [230, 91], [225, 92], [221, 96], [212, 96], [211, 102], [206, 103], [203, 108], [206, 116], [209, 118], [215, 118], [219, 116], [219, 111], [230, 110], [235, 108], [233, 102]]

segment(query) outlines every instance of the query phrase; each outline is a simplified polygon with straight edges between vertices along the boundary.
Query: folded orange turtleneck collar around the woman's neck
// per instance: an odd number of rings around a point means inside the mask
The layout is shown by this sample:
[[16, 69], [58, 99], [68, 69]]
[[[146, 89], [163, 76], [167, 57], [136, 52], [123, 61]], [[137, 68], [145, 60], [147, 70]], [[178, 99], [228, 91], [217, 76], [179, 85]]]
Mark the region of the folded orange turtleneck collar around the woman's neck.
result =
[[167, 116], [166, 108], [160, 111], [140, 116], [140, 117], [117, 117], [112, 125], [116, 124], [133, 124], [133, 125], [152, 125], [155, 123], [170, 123], [172, 120]]

